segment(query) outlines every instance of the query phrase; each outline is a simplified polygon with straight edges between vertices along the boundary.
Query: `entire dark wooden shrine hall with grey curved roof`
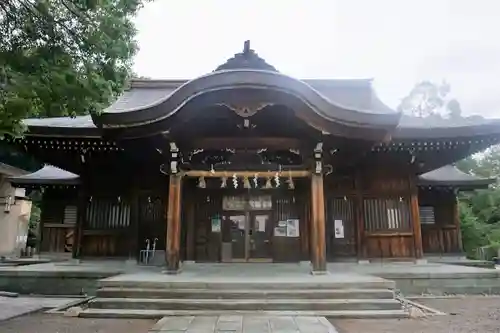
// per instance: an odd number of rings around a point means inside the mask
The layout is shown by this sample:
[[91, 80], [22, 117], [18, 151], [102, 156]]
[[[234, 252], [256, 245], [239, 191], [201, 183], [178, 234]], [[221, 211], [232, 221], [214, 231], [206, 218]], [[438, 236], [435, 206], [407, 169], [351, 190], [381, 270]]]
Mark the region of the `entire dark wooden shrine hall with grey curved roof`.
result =
[[456, 193], [494, 180], [452, 164], [500, 121], [414, 118], [370, 80], [299, 80], [245, 43], [192, 80], [132, 80], [99, 115], [27, 119], [8, 139], [46, 166], [39, 251], [182, 261], [420, 259], [461, 252]]

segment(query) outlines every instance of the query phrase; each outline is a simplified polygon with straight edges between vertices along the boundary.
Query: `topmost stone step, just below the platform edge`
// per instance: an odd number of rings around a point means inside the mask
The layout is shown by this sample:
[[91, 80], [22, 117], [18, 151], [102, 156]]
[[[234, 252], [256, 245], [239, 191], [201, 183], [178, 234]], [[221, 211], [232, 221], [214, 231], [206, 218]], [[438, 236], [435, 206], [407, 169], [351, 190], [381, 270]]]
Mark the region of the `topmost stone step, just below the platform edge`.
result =
[[237, 289], [394, 289], [394, 281], [377, 279], [368, 281], [138, 281], [138, 280], [116, 280], [103, 279], [99, 281], [100, 288], [142, 288], [142, 289], [215, 289], [215, 290], [237, 290]]

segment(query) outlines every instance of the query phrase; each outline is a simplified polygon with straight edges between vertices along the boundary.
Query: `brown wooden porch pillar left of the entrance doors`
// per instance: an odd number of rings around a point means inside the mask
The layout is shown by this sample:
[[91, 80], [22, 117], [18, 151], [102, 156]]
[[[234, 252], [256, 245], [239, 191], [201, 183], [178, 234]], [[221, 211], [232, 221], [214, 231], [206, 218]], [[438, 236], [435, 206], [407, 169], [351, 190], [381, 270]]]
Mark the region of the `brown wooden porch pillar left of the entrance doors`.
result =
[[176, 274], [180, 268], [182, 177], [170, 175], [167, 205], [167, 273]]

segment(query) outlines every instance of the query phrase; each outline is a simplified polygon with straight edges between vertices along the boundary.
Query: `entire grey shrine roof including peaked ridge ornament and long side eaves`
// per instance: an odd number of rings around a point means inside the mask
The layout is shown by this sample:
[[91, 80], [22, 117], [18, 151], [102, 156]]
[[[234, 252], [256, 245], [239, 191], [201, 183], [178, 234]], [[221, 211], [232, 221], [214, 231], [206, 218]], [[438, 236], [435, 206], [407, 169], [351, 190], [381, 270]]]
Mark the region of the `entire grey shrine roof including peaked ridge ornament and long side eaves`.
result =
[[[500, 120], [481, 117], [450, 120], [401, 115], [378, 98], [371, 80], [298, 80], [286, 76], [250, 49], [249, 41], [245, 42], [242, 52], [199, 78], [133, 80], [129, 89], [113, 104], [92, 118], [27, 119], [24, 123], [38, 135], [100, 137], [102, 128], [158, 123], [176, 114], [194, 99], [203, 98], [203, 95], [206, 97], [220, 91], [226, 93], [217, 97], [223, 100], [231, 96], [232, 89], [240, 88], [259, 91], [266, 98], [269, 96], [265, 95], [265, 91], [273, 90], [280, 96], [276, 97], [277, 104], [289, 103], [295, 109], [300, 108], [300, 116], [311, 126], [339, 136], [368, 140], [386, 139], [390, 134], [396, 139], [411, 140], [495, 134], [500, 140]], [[216, 102], [224, 104], [224, 101]]]

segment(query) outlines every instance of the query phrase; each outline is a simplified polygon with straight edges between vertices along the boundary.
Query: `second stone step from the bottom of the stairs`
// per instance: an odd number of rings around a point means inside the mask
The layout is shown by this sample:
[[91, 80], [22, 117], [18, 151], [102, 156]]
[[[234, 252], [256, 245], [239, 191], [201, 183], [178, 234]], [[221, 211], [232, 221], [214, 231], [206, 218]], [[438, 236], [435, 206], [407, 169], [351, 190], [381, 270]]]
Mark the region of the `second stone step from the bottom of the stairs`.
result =
[[243, 311], [338, 311], [399, 310], [395, 299], [147, 299], [95, 298], [93, 309], [142, 310], [243, 310]]

